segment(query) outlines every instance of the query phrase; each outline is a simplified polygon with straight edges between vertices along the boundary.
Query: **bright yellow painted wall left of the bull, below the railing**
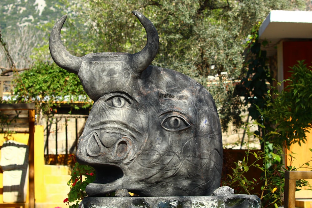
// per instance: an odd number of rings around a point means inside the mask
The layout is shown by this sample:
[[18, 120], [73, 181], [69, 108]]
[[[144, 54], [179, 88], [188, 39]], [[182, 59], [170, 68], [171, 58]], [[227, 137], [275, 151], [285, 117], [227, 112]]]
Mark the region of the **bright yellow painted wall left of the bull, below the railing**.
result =
[[[4, 134], [0, 134], [1, 146], [5, 141], [4, 136]], [[12, 134], [9, 139], [27, 144], [28, 138], [29, 134], [17, 133]], [[66, 207], [66, 204], [63, 203], [63, 200], [68, 197], [67, 193], [70, 190], [69, 186], [67, 185], [67, 181], [69, 181], [71, 178], [71, 169], [68, 166], [45, 165], [43, 126], [35, 126], [34, 139], [35, 206], [36, 208], [54, 208], [56, 206]], [[2, 187], [2, 173], [0, 173], [0, 204], [3, 203]], [[26, 203], [28, 203], [28, 193], [26, 200]]]

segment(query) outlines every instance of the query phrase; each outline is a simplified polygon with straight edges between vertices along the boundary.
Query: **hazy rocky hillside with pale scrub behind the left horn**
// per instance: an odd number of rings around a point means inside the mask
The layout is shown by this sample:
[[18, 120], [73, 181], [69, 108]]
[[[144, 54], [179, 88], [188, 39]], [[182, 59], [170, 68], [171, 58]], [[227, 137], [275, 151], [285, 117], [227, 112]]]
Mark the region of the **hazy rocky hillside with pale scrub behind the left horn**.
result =
[[[0, 6], [0, 34], [15, 67], [29, 69], [36, 56], [35, 48], [47, 44], [48, 33], [42, 26], [55, 22], [64, 14], [64, 4], [58, 0], [2, 0]], [[12, 74], [4, 48], [0, 51], [1, 75]], [[49, 57], [44, 60], [47, 60]], [[42, 58], [42, 57], [41, 57]]]

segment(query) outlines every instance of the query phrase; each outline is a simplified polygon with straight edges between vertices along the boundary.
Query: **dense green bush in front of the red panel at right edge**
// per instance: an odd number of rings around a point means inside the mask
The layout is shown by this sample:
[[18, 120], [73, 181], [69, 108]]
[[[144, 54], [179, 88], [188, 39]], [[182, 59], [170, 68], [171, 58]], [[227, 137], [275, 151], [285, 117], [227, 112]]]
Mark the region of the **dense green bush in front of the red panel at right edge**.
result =
[[305, 143], [306, 133], [312, 127], [312, 70], [304, 60], [291, 67], [290, 80], [285, 89], [274, 99], [270, 120], [282, 136], [280, 144], [289, 147], [292, 143]]

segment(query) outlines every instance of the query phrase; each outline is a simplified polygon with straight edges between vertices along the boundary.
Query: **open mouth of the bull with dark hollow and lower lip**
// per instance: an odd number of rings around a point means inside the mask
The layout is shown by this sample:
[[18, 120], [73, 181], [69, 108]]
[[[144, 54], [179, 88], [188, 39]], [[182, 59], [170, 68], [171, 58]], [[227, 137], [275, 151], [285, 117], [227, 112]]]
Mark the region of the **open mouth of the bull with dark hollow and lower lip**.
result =
[[93, 183], [89, 183], [85, 191], [88, 196], [105, 196], [122, 188], [124, 172], [116, 165], [102, 165], [94, 167], [96, 178]]

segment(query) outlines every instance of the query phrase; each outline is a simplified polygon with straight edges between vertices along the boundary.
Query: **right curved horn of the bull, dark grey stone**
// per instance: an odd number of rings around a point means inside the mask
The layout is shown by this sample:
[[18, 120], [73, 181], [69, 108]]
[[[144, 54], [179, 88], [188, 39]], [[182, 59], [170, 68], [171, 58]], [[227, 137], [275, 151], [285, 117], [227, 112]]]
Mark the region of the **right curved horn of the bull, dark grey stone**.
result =
[[156, 28], [148, 18], [144, 17], [140, 12], [132, 11], [145, 28], [147, 35], [147, 43], [142, 51], [132, 54], [132, 66], [137, 72], [144, 71], [154, 60], [159, 46], [159, 38]]

